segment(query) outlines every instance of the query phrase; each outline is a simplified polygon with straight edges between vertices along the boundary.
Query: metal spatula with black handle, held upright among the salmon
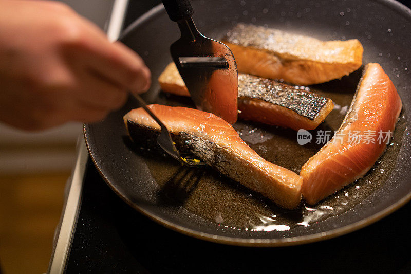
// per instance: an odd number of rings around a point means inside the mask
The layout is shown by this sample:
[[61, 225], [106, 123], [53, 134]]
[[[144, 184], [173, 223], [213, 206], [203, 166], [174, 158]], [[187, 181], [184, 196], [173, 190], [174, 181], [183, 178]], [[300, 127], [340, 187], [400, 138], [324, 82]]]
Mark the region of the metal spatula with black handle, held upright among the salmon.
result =
[[237, 120], [238, 73], [233, 53], [218, 41], [203, 36], [194, 25], [188, 0], [162, 0], [181, 37], [171, 56], [198, 109], [229, 123]]

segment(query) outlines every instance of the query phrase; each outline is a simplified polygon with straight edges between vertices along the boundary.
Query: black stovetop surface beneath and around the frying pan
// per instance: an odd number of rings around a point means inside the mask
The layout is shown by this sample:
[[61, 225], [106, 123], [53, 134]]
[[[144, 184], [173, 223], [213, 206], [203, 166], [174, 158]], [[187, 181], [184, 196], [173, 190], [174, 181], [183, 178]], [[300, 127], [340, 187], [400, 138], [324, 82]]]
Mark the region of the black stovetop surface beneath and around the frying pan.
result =
[[[130, 1], [125, 25], [158, 3]], [[411, 202], [366, 228], [318, 243], [228, 246], [182, 235], [141, 215], [111, 191], [89, 161], [66, 271], [411, 273], [404, 252], [411, 244], [409, 212]]]

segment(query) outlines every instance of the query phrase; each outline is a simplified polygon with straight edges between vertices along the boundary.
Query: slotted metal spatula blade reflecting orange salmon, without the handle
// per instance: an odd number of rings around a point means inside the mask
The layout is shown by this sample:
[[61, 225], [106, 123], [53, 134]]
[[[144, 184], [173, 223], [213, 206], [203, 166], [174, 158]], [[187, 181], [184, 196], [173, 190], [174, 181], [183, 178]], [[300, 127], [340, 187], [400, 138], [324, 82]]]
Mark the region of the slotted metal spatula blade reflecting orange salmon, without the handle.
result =
[[[184, 28], [180, 25], [181, 38], [170, 47], [178, 71], [198, 109], [235, 123], [238, 113], [238, 72], [233, 53], [225, 44], [200, 34], [192, 20], [187, 23], [192, 24], [189, 26], [190, 32], [184, 33]], [[228, 68], [207, 64], [183, 66], [181, 57], [223, 57]]]

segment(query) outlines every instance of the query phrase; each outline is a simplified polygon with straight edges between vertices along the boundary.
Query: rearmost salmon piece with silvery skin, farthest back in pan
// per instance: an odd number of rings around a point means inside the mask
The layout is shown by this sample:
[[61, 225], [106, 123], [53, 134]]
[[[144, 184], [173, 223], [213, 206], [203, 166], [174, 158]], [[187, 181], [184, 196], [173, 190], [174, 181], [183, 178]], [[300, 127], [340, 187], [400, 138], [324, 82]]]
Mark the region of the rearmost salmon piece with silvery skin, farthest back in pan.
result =
[[297, 85], [339, 79], [362, 65], [357, 39], [320, 41], [277, 29], [238, 24], [222, 40], [233, 52], [238, 72]]

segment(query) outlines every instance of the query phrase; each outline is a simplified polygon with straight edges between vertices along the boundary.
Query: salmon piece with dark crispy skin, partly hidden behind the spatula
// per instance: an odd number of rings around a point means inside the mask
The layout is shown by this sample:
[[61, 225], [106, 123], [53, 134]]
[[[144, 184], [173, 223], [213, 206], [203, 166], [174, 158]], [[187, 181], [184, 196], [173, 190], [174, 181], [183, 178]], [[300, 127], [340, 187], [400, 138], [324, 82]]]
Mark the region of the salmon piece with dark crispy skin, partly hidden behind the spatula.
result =
[[[190, 96], [174, 63], [158, 78], [164, 92]], [[293, 130], [315, 129], [334, 107], [326, 97], [273, 80], [238, 74], [239, 117]]]

